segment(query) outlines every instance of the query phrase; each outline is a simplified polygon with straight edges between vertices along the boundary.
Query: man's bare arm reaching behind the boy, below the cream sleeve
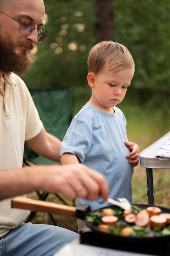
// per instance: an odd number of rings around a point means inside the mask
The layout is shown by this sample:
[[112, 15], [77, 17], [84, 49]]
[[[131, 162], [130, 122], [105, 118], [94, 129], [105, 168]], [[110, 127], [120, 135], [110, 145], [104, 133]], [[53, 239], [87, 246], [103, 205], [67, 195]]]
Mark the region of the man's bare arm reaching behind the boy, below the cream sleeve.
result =
[[44, 126], [37, 136], [28, 139], [29, 146], [39, 155], [60, 162], [61, 141], [46, 132]]

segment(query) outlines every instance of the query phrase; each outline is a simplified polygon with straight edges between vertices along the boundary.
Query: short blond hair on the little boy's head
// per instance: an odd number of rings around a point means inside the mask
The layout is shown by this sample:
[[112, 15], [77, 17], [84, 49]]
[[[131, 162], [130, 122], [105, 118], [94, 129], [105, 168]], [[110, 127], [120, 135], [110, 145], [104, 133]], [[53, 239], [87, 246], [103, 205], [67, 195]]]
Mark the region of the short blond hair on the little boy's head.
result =
[[124, 45], [113, 41], [101, 41], [90, 49], [87, 59], [88, 72], [97, 74], [106, 63], [111, 71], [131, 67], [135, 70], [135, 63], [129, 50]]

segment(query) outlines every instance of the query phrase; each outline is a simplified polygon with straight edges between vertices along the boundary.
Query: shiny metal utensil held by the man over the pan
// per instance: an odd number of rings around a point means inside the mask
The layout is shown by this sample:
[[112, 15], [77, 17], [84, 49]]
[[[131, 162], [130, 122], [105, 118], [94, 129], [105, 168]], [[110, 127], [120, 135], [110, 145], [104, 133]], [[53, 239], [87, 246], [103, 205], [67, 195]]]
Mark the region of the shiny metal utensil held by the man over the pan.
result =
[[117, 205], [117, 206], [121, 207], [122, 209], [129, 211], [136, 215], [135, 209], [133, 209], [130, 202], [126, 198], [114, 198], [114, 199], [108, 198], [107, 202], [109, 202], [110, 204]]

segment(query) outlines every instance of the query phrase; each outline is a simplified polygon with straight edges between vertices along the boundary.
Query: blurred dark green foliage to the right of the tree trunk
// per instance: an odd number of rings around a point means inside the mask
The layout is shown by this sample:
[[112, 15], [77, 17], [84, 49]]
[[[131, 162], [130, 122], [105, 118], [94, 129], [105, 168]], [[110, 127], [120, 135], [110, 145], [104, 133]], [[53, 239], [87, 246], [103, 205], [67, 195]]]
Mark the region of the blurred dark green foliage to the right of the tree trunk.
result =
[[[115, 1], [115, 40], [131, 51], [136, 71], [133, 90], [139, 103], [170, 110], [170, 2]], [[130, 88], [129, 92], [132, 88]], [[131, 92], [133, 94], [133, 92]], [[134, 94], [133, 94], [134, 96]], [[134, 97], [133, 97], [134, 99]]]

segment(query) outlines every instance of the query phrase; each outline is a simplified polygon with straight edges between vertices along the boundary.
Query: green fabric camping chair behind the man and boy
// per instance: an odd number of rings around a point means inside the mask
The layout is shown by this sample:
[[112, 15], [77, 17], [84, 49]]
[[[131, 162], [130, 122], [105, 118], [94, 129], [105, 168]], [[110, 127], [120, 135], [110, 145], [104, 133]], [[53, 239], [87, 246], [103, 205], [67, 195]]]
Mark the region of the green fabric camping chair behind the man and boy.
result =
[[[72, 119], [72, 87], [67, 86], [59, 89], [50, 90], [29, 89], [29, 91], [46, 131], [62, 140]], [[35, 153], [25, 142], [23, 166], [33, 164], [50, 165], [57, 163], [41, 157], [40, 155]], [[46, 198], [48, 197], [48, 193], [46, 192], [36, 191], [36, 193], [39, 200], [46, 200]], [[60, 195], [56, 194], [56, 196], [63, 204], [67, 204], [67, 202]], [[36, 212], [32, 211], [28, 216], [26, 222], [31, 221], [34, 218], [35, 214]], [[55, 221], [52, 214], [48, 214], [54, 225], [57, 225], [57, 222]]]

